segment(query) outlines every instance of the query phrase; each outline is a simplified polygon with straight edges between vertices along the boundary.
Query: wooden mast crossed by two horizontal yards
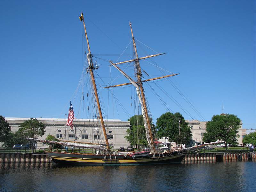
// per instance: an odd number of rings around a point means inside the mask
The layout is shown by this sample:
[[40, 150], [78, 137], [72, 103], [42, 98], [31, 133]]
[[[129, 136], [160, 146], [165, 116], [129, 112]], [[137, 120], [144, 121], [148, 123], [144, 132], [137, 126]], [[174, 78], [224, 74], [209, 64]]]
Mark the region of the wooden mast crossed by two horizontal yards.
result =
[[[129, 24], [130, 24], [130, 28], [131, 28], [131, 32], [132, 32], [132, 23], [129, 22]], [[140, 61], [139, 61], [139, 57], [138, 57], [138, 54], [137, 54], [137, 49], [136, 49], [136, 44], [135, 44], [135, 39], [134, 39], [134, 36], [133, 36], [133, 32], [132, 32], [132, 41], [133, 41], [133, 47], [134, 47], [135, 56], [136, 56], [136, 60], [135, 60], [135, 66], [136, 66], [136, 70], [137, 70], [136, 75], [137, 75], [137, 78], [138, 78], [138, 85], [140, 87], [141, 99], [142, 99], [143, 108], [144, 108], [144, 111], [145, 111], [146, 120], [147, 120], [147, 124], [148, 124], [150, 144], [151, 144], [152, 152], [154, 154], [155, 153], [155, 146], [154, 146], [153, 134], [152, 134], [152, 130], [151, 130], [151, 123], [150, 123], [149, 116], [148, 116], [148, 109], [147, 109], [144, 89], [143, 89], [143, 85], [142, 85], [142, 82], [141, 82], [142, 73], [141, 73], [141, 69], [140, 69]]]

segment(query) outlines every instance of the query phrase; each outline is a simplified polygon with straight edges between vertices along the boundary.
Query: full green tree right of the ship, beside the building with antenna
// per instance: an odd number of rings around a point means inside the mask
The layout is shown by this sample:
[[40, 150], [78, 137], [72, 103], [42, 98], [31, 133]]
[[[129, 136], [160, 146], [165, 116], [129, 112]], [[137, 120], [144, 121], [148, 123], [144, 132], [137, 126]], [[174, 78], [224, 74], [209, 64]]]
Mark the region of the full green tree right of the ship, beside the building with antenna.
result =
[[227, 144], [237, 144], [236, 138], [239, 137], [240, 119], [233, 114], [214, 115], [212, 120], [206, 123], [206, 133], [204, 142], [213, 142], [217, 139], [224, 141], [226, 150]]

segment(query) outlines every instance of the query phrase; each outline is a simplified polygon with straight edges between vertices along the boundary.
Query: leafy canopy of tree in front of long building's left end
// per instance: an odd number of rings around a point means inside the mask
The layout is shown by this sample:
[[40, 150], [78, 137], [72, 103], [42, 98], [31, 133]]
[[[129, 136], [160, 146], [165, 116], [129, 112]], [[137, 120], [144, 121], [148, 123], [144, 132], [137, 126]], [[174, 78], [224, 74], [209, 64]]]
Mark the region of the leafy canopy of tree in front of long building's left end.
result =
[[31, 118], [19, 125], [18, 132], [21, 137], [37, 139], [37, 137], [44, 135], [44, 129], [44, 123], [38, 121], [36, 118]]

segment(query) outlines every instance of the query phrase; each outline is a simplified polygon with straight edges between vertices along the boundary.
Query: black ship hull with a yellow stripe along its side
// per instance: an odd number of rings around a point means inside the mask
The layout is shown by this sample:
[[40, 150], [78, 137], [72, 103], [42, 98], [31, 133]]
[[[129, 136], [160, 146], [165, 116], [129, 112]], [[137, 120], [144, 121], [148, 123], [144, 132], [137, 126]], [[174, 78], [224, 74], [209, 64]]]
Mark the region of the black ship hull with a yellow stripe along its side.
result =
[[164, 153], [164, 157], [156, 154], [153, 158], [151, 154], [147, 157], [132, 158], [123, 155], [91, 155], [91, 154], [78, 154], [78, 153], [59, 153], [59, 152], [46, 152], [52, 158], [52, 161], [58, 164], [69, 165], [140, 165], [140, 164], [170, 164], [181, 163], [184, 155], [178, 152]]

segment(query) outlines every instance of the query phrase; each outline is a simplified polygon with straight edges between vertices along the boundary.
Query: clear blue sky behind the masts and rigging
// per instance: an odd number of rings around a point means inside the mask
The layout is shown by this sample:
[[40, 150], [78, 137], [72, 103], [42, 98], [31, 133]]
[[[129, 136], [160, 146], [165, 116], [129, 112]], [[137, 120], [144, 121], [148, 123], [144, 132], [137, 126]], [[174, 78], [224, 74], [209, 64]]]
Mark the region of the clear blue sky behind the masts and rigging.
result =
[[[170, 81], [158, 81], [157, 86], [150, 84], [173, 112], [180, 112], [186, 119], [193, 116], [201, 121], [210, 120], [212, 115], [222, 112], [223, 101], [225, 113], [237, 115], [244, 128], [255, 129], [255, 1], [250, 0], [1, 1], [1, 115], [64, 118], [71, 98], [77, 118], [83, 117], [79, 108], [81, 95], [72, 96], [84, 64], [83, 28], [78, 19], [82, 11], [95, 56], [118, 59], [131, 41], [129, 21], [138, 40], [139, 56], [167, 52], [153, 59], [166, 70], [163, 73], [148, 63], [152, 60], [141, 62], [141, 67], [152, 77], [169, 74], [167, 71], [180, 73], [170, 80], [200, 111], [200, 116]], [[131, 46], [125, 53], [131, 53]], [[128, 58], [123, 55], [119, 60]], [[131, 74], [129, 70], [126, 69]], [[113, 68], [111, 72], [114, 77], [119, 75]], [[100, 60], [97, 73], [109, 83], [108, 62]], [[96, 80], [100, 87], [100, 78]], [[126, 82], [121, 77], [113, 84]], [[148, 85], [145, 90], [156, 122], [167, 109]], [[131, 87], [114, 92], [129, 114], [110, 102], [112, 96], [107, 106], [108, 91], [100, 89], [104, 114], [127, 120], [134, 111], [130, 107]]]

